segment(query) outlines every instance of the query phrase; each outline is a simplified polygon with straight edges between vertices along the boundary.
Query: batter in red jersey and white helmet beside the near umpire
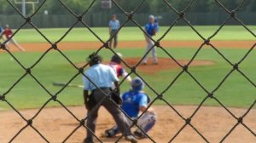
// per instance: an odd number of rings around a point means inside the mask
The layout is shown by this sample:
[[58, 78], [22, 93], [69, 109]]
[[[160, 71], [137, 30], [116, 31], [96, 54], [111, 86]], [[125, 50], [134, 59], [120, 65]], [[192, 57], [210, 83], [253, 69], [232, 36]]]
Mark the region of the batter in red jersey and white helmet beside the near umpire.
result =
[[[126, 77], [128, 73], [125, 71], [125, 69], [121, 66], [121, 57], [122, 54], [117, 53], [113, 54], [111, 58], [111, 62], [108, 64], [108, 66], [111, 66], [113, 68], [113, 71], [116, 72], [117, 77]], [[127, 76], [125, 78], [129, 83], [131, 83], [131, 77]]]

